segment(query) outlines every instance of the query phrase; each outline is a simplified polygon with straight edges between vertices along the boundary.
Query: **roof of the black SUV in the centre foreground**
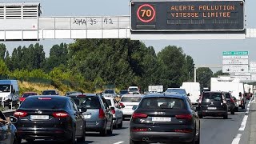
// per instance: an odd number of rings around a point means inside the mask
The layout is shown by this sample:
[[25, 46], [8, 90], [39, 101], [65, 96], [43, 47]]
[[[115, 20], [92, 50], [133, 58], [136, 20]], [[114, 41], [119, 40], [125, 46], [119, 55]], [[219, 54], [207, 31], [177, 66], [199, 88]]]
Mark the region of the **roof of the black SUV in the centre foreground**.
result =
[[146, 94], [144, 98], [182, 98], [186, 99], [187, 96], [184, 94], [174, 94], [174, 93], [152, 93], [152, 94]]

